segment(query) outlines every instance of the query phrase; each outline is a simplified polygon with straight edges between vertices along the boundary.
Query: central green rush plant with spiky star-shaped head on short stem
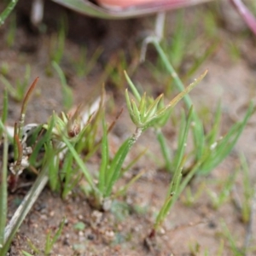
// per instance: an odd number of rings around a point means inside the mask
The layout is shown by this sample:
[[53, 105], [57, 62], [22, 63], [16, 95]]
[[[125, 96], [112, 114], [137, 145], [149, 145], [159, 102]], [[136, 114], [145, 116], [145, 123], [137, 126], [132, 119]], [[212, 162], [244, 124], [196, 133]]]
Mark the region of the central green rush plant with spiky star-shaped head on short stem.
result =
[[[102, 163], [98, 172], [98, 181], [95, 183], [94, 178], [90, 174], [89, 170], [84, 165], [83, 160], [76, 152], [72, 143], [68, 142], [67, 138], [62, 137], [62, 141], [67, 145], [68, 151], [73, 154], [73, 158], [76, 164], [79, 166], [81, 171], [84, 173], [84, 177], [88, 182], [88, 187], [84, 187], [85, 193], [90, 196], [91, 204], [96, 208], [103, 208], [108, 210], [111, 206], [111, 201], [113, 199], [113, 186], [123, 175], [122, 166], [124, 164], [127, 154], [131, 151], [132, 146], [137, 142], [137, 139], [141, 136], [143, 131], [146, 131], [149, 127], [152, 127], [161, 119], [166, 119], [169, 117], [170, 109], [179, 102], [184, 95], [189, 93], [196, 84], [198, 84], [201, 79], [204, 78], [207, 72], [203, 73], [199, 79], [196, 79], [194, 83], [189, 84], [189, 86], [178, 94], [171, 102], [166, 106], [160, 104], [162, 100], [162, 95], [158, 96], [156, 99], [152, 99], [145, 93], [141, 96], [135, 85], [131, 82], [131, 79], [125, 73], [125, 78], [131, 87], [132, 94], [135, 99], [129, 96], [128, 90], [125, 91], [125, 100], [130, 113], [130, 117], [134, 125], [136, 125], [135, 131], [128, 137], [124, 143], [122, 143], [114, 154], [113, 159], [109, 158], [109, 148], [108, 148], [108, 128], [103, 121], [103, 136], [102, 136]], [[191, 108], [192, 109], [192, 108]], [[192, 113], [192, 110], [191, 110]], [[104, 120], [104, 118], [103, 118]], [[131, 183], [135, 182], [142, 173], [139, 173], [137, 177], [131, 180]], [[129, 184], [131, 184], [129, 183]], [[127, 187], [120, 189], [124, 191]], [[120, 191], [118, 194], [121, 193]]]

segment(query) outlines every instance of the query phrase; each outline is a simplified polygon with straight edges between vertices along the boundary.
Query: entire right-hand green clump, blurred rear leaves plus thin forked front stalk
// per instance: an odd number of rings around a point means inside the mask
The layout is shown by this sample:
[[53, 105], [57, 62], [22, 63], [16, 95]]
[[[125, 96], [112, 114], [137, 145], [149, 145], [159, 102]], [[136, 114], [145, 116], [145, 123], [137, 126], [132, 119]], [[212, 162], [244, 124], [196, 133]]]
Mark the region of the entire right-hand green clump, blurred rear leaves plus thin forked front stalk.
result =
[[[166, 67], [167, 72], [172, 76], [177, 89], [183, 90], [183, 83], [177, 76], [177, 73], [172, 67], [171, 62], [168, 60], [165, 51], [161, 49], [159, 42], [153, 39], [151, 43], [154, 44], [155, 49], [160, 55], [161, 61]], [[205, 135], [201, 119], [199, 119], [195, 109], [191, 108], [192, 101], [189, 95], [185, 95], [183, 100], [185, 106], [189, 109], [189, 114], [187, 119], [182, 115], [183, 118], [177, 137], [176, 154], [172, 156], [170, 148], [167, 148], [166, 137], [160, 130], [161, 127], [166, 124], [166, 119], [164, 122], [159, 122], [154, 126], [164, 160], [166, 161], [166, 169], [169, 172], [172, 172], [172, 182], [170, 183], [166, 200], [155, 219], [154, 226], [146, 238], [147, 242], [148, 239], [150, 240], [154, 238], [156, 231], [159, 230], [168, 212], [170, 212], [171, 208], [177, 201], [177, 198], [181, 195], [183, 189], [185, 189], [192, 177], [199, 174], [206, 175], [212, 172], [212, 170], [218, 166], [218, 164], [224, 160], [228, 154], [230, 154], [237, 142], [237, 139], [240, 137], [241, 132], [247, 124], [247, 120], [254, 111], [253, 104], [251, 103], [241, 122], [237, 122], [233, 125], [224, 137], [219, 137], [218, 132], [221, 120], [221, 108], [219, 105], [216, 111], [212, 130]], [[190, 129], [192, 130], [194, 146], [193, 149], [187, 153], [185, 148]], [[192, 164], [190, 164], [189, 167], [186, 167], [186, 162], [188, 161]], [[228, 188], [226, 189], [230, 191], [234, 182], [234, 177], [229, 179], [226, 183], [228, 184]], [[215, 201], [215, 207], [220, 206], [226, 199], [227, 190], [218, 197], [218, 201]]]

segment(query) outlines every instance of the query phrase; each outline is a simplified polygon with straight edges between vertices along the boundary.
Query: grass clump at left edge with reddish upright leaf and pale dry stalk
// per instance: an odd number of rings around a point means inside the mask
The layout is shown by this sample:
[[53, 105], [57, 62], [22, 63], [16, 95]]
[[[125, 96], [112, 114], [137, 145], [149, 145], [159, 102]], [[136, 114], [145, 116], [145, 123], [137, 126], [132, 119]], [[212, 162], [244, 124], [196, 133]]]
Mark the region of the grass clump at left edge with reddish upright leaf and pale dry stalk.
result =
[[[32, 83], [31, 87], [26, 93], [26, 96], [23, 100], [21, 110], [20, 110], [20, 120], [15, 124], [15, 135], [13, 143], [15, 148], [15, 162], [13, 164], [8, 164], [7, 162], [7, 138], [8, 136], [4, 136], [4, 144], [1, 144], [1, 148], [3, 148], [3, 177], [1, 178], [1, 204], [0, 207], [3, 210], [3, 214], [1, 214], [1, 225], [0, 225], [0, 235], [1, 235], [1, 245], [0, 255], [5, 255], [8, 251], [9, 244], [15, 236], [16, 231], [19, 229], [20, 224], [22, 224], [24, 218], [26, 218], [26, 214], [30, 211], [33, 203], [37, 200], [38, 195], [44, 189], [46, 183], [48, 183], [52, 187], [52, 189], [56, 188], [56, 177], [55, 174], [59, 171], [60, 161], [63, 159], [63, 154], [65, 154], [65, 144], [60, 141], [60, 138], [66, 136], [70, 141], [74, 141], [75, 137], [79, 131], [80, 126], [77, 124], [77, 115], [74, 114], [74, 117], [66, 116], [62, 114], [61, 117], [58, 117], [53, 113], [51, 118], [49, 119], [48, 124], [44, 125], [25, 125], [25, 117], [26, 117], [26, 107], [29, 98], [32, 96], [32, 90], [34, 90], [35, 85], [37, 84], [38, 79]], [[4, 105], [7, 104], [7, 99], [5, 97]], [[7, 107], [4, 107], [4, 109]], [[6, 111], [3, 111], [2, 119], [5, 120]], [[1, 132], [6, 133], [4, 131], [4, 125], [1, 122]], [[31, 149], [30, 149], [31, 148]], [[44, 155], [42, 156], [42, 150]], [[62, 153], [62, 154], [61, 154]], [[42, 160], [43, 158], [43, 160]], [[40, 172], [38, 172], [37, 168], [39, 168]], [[9, 166], [9, 170], [12, 175], [15, 177], [15, 181], [17, 182], [17, 177], [19, 177], [20, 173], [23, 172], [24, 169], [31, 169], [38, 174], [38, 177], [33, 183], [31, 190], [27, 193], [24, 200], [22, 201], [20, 207], [16, 210], [13, 218], [10, 220], [9, 224], [4, 228], [3, 226], [6, 224], [6, 199], [7, 199], [7, 166]], [[52, 168], [52, 167], [55, 168]], [[70, 168], [72, 170], [72, 168]], [[56, 172], [57, 171], [57, 172]], [[48, 237], [47, 239], [47, 247], [45, 248], [46, 252], [49, 253], [49, 250], [53, 246], [57, 236], [59, 236], [60, 232], [57, 232], [51, 241]]]

